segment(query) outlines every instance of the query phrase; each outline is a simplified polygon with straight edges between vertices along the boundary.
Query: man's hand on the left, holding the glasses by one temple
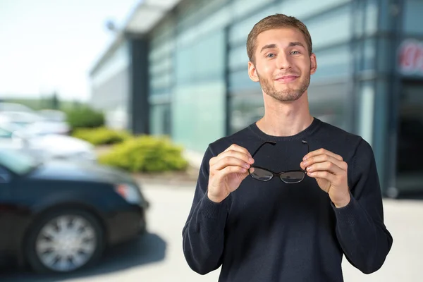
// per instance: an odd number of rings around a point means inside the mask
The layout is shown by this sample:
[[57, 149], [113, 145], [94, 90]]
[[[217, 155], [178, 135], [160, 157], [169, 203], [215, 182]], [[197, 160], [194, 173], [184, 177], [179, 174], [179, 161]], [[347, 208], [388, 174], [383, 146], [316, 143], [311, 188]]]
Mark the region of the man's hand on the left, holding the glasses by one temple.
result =
[[210, 159], [209, 199], [213, 202], [225, 200], [248, 176], [248, 168], [253, 163], [250, 152], [235, 144]]

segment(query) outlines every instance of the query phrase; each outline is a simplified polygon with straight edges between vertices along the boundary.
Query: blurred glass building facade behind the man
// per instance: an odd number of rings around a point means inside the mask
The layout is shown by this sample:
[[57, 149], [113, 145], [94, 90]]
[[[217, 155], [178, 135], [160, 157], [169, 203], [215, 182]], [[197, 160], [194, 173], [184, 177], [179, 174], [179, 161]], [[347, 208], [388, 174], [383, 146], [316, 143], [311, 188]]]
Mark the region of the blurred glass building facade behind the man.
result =
[[[423, 191], [423, 166], [405, 157], [423, 157], [416, 145], [423, 130], [415, 133], [423, 125], [422, 11], [419, 0], [180, 1], [142, 35], [148, 87], [132, 94], [146, 97], [144, 133], [170, 135], [202, 154], [262, 117], [262, 91], [247, 74], [247, 35], [265, 16], [285, 13], [312, 35], [313, 116], [372, 145], [384, 192]], [[104, 97], [99, 89], [93, 92]]]

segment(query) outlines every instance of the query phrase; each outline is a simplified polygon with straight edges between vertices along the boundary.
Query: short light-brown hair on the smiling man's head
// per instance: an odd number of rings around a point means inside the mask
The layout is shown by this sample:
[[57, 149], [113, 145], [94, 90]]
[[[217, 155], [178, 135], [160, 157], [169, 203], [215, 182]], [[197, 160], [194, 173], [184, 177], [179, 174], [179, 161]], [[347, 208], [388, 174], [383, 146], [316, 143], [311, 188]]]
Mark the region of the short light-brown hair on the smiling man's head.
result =
[[255, 50], [257, 48], [256, 41], [257, 36], [260, 33], [265, 32], [266, 30], [274, 30], [276, 28], [283, 28], [283, 27], [294, 27], [302, 32], [302, 35], [305, 37], [305, 42], [307, 43], [307, 49], [309, 51], [309, 56], [312, 55], [313, 52], [313, 44], [312, 44], [312, 37], [307, 30], [307, 27], [304, 23], [302, 23], [297, 18], [286, 16], [280, 13], [276, 13], [275, 15], [267, 16], [263, 18], [258, 23], [252, 27], [250, 34], [247, 37], [247, 55], [248, 59], [252, 63], [255, 63]]

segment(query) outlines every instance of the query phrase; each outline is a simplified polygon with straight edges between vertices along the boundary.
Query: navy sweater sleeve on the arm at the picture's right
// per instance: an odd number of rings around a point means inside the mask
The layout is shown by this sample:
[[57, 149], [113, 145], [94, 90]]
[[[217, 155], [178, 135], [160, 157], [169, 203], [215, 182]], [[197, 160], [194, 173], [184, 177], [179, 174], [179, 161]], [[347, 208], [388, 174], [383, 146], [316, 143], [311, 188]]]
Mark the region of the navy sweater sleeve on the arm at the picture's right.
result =
[[393, 238], [384, 224], [379, 176], [372, 147], [361, 140], [348, 168], [350, 203], [332, 207], [336, 235], [350, 264], [364, 274], [377, 271], [391, 250]]

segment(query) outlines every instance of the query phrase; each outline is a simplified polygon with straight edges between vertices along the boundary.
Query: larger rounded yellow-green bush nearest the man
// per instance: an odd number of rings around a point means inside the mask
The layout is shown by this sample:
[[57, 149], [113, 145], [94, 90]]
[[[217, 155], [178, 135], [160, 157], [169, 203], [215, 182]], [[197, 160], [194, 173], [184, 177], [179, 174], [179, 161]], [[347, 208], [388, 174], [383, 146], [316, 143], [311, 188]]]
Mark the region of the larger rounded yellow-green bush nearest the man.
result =
[[130, 172], [182, 171], [188, 167], [182, 150], [165, 137], [142, 135], [115, 145], [99, 162]]

